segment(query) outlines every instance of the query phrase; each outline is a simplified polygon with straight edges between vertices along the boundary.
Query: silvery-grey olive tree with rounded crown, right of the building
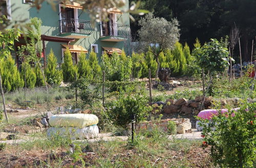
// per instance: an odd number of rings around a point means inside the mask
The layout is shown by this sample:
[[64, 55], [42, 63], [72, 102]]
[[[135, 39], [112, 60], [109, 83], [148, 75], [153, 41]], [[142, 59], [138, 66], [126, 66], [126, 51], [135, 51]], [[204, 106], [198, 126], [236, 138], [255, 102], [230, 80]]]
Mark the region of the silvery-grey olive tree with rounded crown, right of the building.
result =
[[173, 49], [180, 37], [179, 22], [176, 18], [167, 21], [164, 18], [155, 17], [148, 13], [139, 20], [141, 29], [139, 30], [140, 43], [146, 47], [152, 45], [152, 52], [157, 61], [156, 78], [158, 75], [160, 63], [159, 53], [164, 49]]

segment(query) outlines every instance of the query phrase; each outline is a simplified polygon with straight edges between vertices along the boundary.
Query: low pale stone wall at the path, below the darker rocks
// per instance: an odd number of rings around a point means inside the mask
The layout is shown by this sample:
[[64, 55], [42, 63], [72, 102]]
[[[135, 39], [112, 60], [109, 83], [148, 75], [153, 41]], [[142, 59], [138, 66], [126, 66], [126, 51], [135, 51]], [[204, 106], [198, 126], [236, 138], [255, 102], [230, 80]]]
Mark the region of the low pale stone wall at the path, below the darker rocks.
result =
[[[163, 131], [168, 131], [168, 121], [174, 121], [177, 126], [177, 133], [186, 133], [187, 130], [191, 129], [191, 123], [189, 119], [166, 119], [166, 120], [153, 120], [153, 121], [144, 121], [137, 123], [136, 126], [134, 125], [135, 132], [139, 133], [142, 130], [152, 130], [154, 126], [158, 126]], [[132, 124], [129, 124], [129, 130], [132, 130]]]

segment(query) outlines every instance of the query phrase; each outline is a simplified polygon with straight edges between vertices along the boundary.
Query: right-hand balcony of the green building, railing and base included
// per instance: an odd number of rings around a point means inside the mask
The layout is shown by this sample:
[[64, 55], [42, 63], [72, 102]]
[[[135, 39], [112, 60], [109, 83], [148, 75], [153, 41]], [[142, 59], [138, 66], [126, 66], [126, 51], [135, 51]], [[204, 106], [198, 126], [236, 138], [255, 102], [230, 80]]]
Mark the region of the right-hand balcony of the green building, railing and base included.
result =
[[124, 41], [130, 36], [130, 26], [105, 22], [99, 24], [101, 41]]

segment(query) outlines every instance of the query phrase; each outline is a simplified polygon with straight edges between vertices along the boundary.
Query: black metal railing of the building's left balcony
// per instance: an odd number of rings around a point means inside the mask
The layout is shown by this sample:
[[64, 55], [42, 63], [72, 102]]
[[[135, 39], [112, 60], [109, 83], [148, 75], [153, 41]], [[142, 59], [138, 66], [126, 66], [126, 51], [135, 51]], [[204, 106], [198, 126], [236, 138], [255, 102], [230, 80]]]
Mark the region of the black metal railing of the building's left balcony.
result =
[[81, 19], [59, 20], [59, 30], [60, 33], [91, 34], [93, 32], [91, 22], [89, 20]]

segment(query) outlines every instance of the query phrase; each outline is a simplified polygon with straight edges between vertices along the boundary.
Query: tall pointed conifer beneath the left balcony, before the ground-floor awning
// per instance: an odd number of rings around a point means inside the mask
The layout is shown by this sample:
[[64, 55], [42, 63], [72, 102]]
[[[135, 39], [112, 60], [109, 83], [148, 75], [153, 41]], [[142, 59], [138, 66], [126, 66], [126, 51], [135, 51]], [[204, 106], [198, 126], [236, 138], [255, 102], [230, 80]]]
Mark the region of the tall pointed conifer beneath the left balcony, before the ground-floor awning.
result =
[[73, 65], [72, 55], [68, 48], [64, 52], [64, 61], [61, 68], [63, 73], [63, 81], [71, 82], [75, 80], [75, 74], [77, 74], [77, 67], [76, 65]]

